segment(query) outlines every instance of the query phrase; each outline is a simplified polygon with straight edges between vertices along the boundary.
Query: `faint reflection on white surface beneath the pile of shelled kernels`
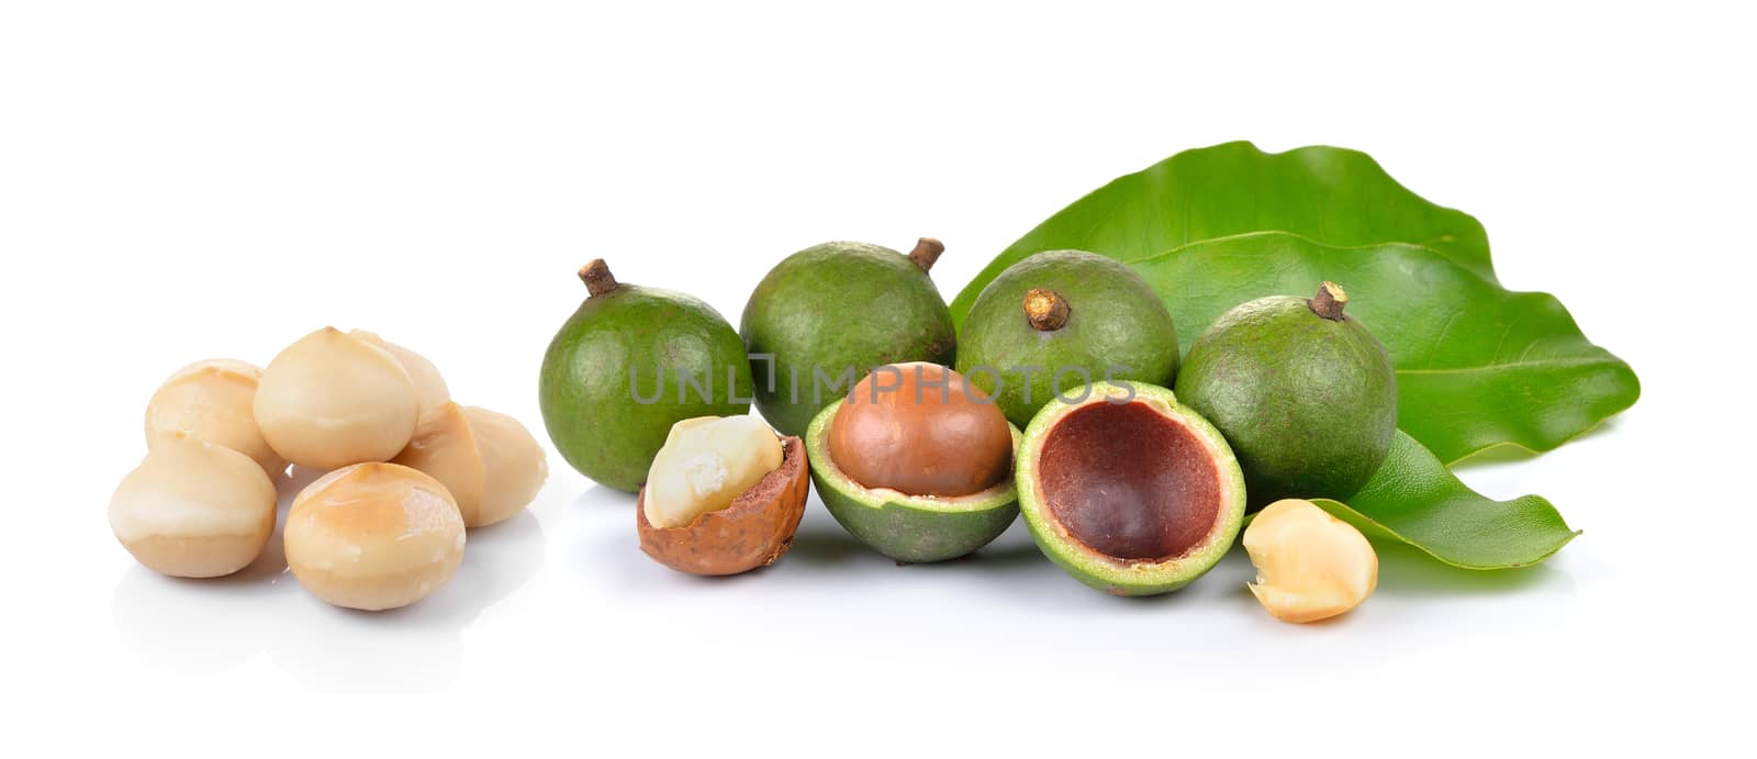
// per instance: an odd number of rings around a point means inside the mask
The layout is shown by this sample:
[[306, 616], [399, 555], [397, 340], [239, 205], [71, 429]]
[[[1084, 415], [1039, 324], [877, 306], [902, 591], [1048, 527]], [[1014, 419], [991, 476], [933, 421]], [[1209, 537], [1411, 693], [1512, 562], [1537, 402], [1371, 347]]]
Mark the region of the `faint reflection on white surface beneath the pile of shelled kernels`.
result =
[[299, 587], [281, 546], [292, 495], [313, 480], [295, 469], [279, 483], [274, 538], [237, 575], [181, 580], [130, 566], [112, 601], [121, 638], [186, 675], [227, 671], [267, 652], [318, 690], [434, 690], [457, 678], [464, 629], [543, 566], [543, 525], [527, 510], [471, 531], [457, 576], [420, 603], [390, 611], [329, 606]]

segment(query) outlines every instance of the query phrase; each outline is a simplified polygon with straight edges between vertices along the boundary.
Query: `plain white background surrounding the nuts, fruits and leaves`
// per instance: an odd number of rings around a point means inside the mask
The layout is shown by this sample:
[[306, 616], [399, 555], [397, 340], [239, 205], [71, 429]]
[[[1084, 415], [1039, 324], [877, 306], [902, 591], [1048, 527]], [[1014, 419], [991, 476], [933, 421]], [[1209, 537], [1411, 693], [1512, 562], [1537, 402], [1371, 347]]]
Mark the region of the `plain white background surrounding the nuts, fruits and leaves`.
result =
[[[1757, 675], [1748, 18], [942, 5], [5, 4], [0, 743], [1736, 745]], [[1460, 473], [1548, 495], [1583, 538], [1518, 573], [1386, 550], [1365, 606], [1295, 627], [1237, 553], [1124, 601], [1023, 525], [896, 567], [815, 495], [775, 567], [680, 576], [638, 552], [629, 495], [559, 457], [527, 517], [473, 532], [457, 580], [397, 613], [327, 608], [272, 552], [165, 580], [109, 534], [144, 402], [186, 362], [374, 329], [541, 436], [538, 364], [589, 258], [736, 323], [791, 251], [938, 235], [951, 297], [1082, 193], [1232, 139], [1369, 151], [1481, 218], [1504, 283], [1557, 293], [1636, 367], [1641, 402], [1601, 430]], [[430, 690], [453, 696], [304, 698]]]

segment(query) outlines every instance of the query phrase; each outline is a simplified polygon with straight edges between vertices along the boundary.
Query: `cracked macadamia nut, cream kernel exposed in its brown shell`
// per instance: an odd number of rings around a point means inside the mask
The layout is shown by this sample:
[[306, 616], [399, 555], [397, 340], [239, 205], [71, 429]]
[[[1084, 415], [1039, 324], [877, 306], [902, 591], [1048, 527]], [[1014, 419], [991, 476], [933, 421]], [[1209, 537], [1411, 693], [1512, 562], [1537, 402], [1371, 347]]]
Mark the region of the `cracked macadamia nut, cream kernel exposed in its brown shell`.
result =
[[671, 427], [636, 508], [641, 550], [691, 575], [738, 575], [792, 546], [810, 488], [805, 443], [756, 416]]

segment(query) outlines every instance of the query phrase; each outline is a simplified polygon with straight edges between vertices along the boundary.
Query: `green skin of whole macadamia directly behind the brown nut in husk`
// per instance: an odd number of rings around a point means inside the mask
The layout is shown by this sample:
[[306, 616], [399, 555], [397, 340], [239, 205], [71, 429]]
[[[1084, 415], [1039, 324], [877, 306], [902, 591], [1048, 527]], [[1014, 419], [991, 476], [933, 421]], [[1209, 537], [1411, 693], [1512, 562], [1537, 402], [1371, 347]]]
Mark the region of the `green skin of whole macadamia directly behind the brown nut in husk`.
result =
[[777, 264], [750, 293], [740, 334], [752, 357], [757, 409], [789, 436], [805, 434], [819, 409], [873, 367], [951, 365], [958, 346], [928, 272], [866, 242], [824, 242]]

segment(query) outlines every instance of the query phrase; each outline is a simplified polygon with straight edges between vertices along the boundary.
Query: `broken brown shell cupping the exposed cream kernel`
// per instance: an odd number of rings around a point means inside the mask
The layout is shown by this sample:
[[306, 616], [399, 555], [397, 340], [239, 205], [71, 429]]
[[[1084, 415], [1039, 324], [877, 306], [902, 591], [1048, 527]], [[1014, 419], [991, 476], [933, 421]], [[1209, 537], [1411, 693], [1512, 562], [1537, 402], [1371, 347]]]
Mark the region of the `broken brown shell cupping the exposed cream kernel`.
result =
[[738, 575], [775, 564], [792, 546], [792, 534], [805, 517], [805, 443], [782, 437], [782, 459], [733, 504], [698, 515], [683, 527], [662, 529], [647, 522], [647, 488], [634, 504], [641, 550], [659, 564], [689, 575]]

